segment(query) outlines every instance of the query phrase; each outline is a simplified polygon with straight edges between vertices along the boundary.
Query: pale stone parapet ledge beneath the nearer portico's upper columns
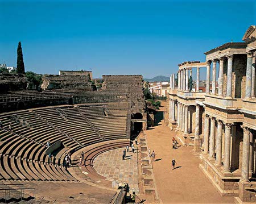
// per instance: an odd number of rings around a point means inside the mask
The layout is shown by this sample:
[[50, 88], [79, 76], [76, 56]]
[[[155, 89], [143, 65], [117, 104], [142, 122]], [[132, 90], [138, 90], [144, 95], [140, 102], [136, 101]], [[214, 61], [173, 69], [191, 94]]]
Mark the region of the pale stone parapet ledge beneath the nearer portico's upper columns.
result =
[[242, 98], [225, 98], [218, 95], [205, 94], [204, 103], [225, 110], [242, 109]]

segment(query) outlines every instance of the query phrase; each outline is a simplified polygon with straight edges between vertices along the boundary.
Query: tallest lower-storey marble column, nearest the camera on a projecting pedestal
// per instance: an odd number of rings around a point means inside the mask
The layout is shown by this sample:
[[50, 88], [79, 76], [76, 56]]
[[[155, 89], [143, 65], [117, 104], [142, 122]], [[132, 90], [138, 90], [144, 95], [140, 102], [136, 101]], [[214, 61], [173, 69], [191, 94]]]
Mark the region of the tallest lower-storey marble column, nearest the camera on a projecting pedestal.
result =
[[243, 128], [243, 153], [242, 153], [242, 182], [249, 182], [249, 151], [250, 151], [250, 131], [249, 128], [242, 126]]

